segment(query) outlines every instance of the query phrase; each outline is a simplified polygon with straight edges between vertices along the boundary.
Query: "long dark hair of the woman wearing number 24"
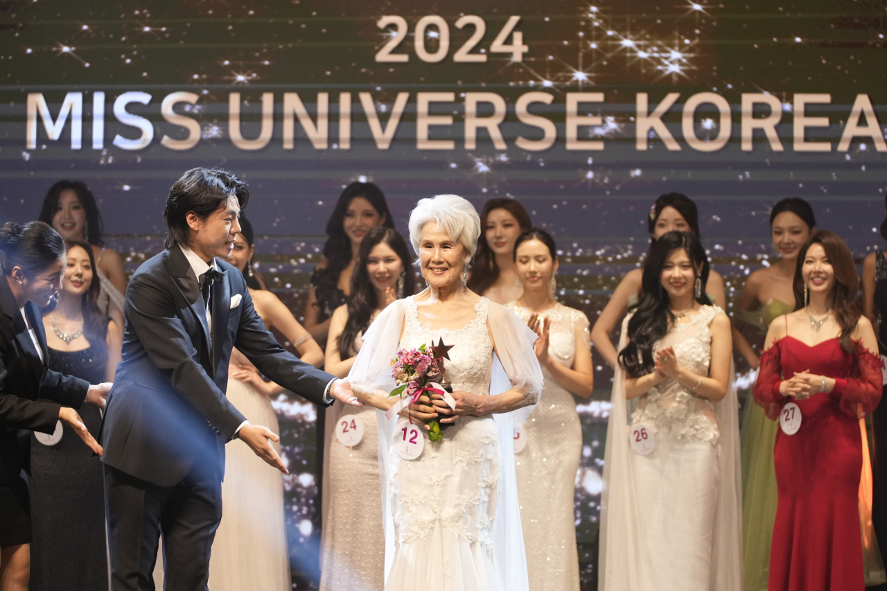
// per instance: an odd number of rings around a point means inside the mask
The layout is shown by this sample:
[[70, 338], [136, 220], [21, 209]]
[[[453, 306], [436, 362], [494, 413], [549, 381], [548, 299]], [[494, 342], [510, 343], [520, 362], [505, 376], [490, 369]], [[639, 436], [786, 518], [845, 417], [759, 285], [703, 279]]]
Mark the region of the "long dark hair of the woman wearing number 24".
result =
[[366, 330], [370, 326], [373, 311], [379, 305], [379, 296], [370, 273], [366, 270], [370, 253], [376, 245], [384, 242], [389, 245], [396, 255], [400, 257], [400, 263], [404, 267], [404, 296], [412, 296], [415, 291], [415, 276], [410, 262], [412, 257], [406, 248], [406, 241], [396, 230], [378, 225], [366, 232], [364, 240], [360, 242], [360, 250], [357, 251], [357, 263], [354, 265], [354, 273], [351, 275], [351, 294], [348, 296], [348, 320], [339, 335], [339, 354], [344, 357], [349, 354], [357, 333]]

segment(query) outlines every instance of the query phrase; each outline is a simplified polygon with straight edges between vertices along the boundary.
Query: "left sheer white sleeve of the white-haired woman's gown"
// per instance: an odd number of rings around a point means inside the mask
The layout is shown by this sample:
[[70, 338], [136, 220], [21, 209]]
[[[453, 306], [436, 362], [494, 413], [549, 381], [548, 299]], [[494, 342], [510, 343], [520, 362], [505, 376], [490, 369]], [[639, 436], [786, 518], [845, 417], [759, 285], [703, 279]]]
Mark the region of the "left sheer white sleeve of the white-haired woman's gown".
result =
[[404, 300], [397, 300], [366, 330], [364, 344], [348, 374], [353, 390], [365, 394], [385, 390], [387, 394], [396, 386], [391, 377], [391, 359], [397, 354], [405, 311]]

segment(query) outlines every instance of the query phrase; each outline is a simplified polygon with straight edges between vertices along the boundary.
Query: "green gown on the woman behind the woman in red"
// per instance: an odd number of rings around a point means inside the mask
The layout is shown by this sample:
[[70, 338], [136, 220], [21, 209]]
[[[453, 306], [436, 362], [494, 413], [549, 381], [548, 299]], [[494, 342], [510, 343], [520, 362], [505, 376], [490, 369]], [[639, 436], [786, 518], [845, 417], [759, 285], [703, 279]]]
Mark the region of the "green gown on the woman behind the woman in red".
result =
[[[766, 333], [773, 319], [795, 309], [780, 300], [744, 311], [739, 318]], [[776, 471], [773, 445], [779, 422], [767, 418], [764, 409], [749, 400], [742, 416], [742, 552], [746, 591], [765, 591], [770, 571], [770, 541], [776, 520]]]

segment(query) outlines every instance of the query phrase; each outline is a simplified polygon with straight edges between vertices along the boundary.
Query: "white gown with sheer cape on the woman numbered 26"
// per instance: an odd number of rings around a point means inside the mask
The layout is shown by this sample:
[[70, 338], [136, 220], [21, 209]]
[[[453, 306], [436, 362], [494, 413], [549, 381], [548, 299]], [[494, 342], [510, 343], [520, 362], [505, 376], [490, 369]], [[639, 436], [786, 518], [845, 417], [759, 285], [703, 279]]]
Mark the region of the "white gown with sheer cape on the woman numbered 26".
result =
[[[654, 351], [673, 346], [680, 366], [708, 375], [710, 322], [703, 306], [677, 322]], [[623, 333], [627, 319], [623, 324]], [[624, 345], [624, 337], [620, 348]], [[738, 409], [733, 384], [715, 403], [671, 378], [640, 397], [632, 425], [655, 436], [648, 455], [628, 449], [624, 371], [613, 388], [602, 502], [604, 591], [740, 591]], [[621, 423], [621, 427], [620, 427]]]

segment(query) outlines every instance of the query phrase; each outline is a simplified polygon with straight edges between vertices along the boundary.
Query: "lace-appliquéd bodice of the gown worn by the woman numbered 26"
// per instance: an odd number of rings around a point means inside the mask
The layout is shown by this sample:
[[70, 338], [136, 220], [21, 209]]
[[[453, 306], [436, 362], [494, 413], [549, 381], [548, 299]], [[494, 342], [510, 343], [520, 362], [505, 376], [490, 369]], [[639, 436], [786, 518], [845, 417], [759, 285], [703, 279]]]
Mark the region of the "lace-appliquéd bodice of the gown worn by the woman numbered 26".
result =
[[[711, 330], [709, 325], [722, 313], [718, 306], [703, 306], [687, 322], [676, 322], [668, 334], [657, 341], [653, 351], [674, 347], [679, 366], [703, 376], [709, 374]], [[643, 422], [654, 431], [665, 429], [679, 439], [700, 439], [718, 443], [720, 429], [714, 403], [696, 396], [673, 378], [666, 378], [640, 397], [632, 423]]]

